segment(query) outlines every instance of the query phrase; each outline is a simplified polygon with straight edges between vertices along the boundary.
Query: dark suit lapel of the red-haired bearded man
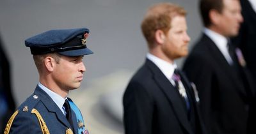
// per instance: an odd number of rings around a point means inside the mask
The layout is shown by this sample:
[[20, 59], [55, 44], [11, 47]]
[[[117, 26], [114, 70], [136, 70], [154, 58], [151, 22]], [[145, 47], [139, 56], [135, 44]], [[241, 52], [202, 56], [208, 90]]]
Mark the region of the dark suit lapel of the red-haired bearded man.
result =
[[152, 70], [152, 73], [154, 74], [154, 80], [156, 81], [156, 84], [159, 86], [159, 88], [163, 91], [163, 93], [166, 95], [166, 98], [170, 101], [171, 105], [173, 106], [173, 110], [175, 114], [177, 115], [180, 124], [189, 132], [192, 133], [190, 124], [188, 122], [188, 115], [187, 111], [184, 108], [184, 103], [180, 99], [179, 93], [175, 91], [175, 87], [172, 86], [171, 82], [166, 78], [161, 70], [157, 68], [157, 66], [152, 63], [152, 61], [149, 61], [147, 59], [146, 61], [147, 66]]

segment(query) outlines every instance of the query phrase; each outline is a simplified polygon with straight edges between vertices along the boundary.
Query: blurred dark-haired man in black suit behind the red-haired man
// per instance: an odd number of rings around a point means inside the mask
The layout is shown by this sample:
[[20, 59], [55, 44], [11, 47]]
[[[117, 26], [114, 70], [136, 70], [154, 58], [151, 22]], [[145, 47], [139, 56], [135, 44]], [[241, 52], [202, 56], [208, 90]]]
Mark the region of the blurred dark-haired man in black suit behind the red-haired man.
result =
[[245, 134], [253, 81], [241, 50], [229, 42], [243, 22], [239, 0], [200, 0], [204, 32], [184, 63], [195, 83], [200, 110], [211, 134]]

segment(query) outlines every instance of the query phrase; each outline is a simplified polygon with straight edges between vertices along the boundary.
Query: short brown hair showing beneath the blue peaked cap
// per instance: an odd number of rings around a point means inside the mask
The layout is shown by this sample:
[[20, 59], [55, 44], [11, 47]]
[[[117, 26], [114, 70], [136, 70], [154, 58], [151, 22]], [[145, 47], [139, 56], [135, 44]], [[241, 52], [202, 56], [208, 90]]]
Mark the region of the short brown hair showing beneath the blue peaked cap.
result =
[[58, 54], [57, 52], [49, 53], [49, 54], [33, 55], [35, 65], [36, 65], [36, 68], [37, 68], [39, 73], [42, 73], [42, 67], [44, 66], [44, 59], [47, 56], [52, 57], [56, 61], [57, 64], [60, 63], [61, 55]]

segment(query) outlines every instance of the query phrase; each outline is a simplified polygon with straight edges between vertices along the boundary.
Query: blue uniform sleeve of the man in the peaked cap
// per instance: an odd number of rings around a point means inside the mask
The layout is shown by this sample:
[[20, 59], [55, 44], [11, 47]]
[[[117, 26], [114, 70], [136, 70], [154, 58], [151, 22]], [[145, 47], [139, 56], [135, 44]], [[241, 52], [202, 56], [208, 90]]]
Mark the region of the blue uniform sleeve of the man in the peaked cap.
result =
[[20, 112], [13, 120], [10, 134], [42, 133], [36, 115], [29, 112]]

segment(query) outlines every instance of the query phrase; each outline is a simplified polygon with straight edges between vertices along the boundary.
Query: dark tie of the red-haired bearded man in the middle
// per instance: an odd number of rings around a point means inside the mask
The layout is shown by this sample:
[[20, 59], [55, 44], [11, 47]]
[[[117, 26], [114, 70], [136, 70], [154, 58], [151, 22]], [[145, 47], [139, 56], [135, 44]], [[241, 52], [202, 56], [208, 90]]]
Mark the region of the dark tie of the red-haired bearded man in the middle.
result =
[[179, 91], [180, 96], [183, 98], [183, 100], [186, 103], [186, 108], [187, 110], [190, 109], [190, 105], [189, 105], [189, 100], [188, 100], [188, 96], [186, 93], [186, 89], [184, 87], [184, 85], [182, 84], [181, 78], [180, 78], [180, 72], [178, 69], [174, 70], [173, 73], [173, 81], [175, 82], [175, 88]]

